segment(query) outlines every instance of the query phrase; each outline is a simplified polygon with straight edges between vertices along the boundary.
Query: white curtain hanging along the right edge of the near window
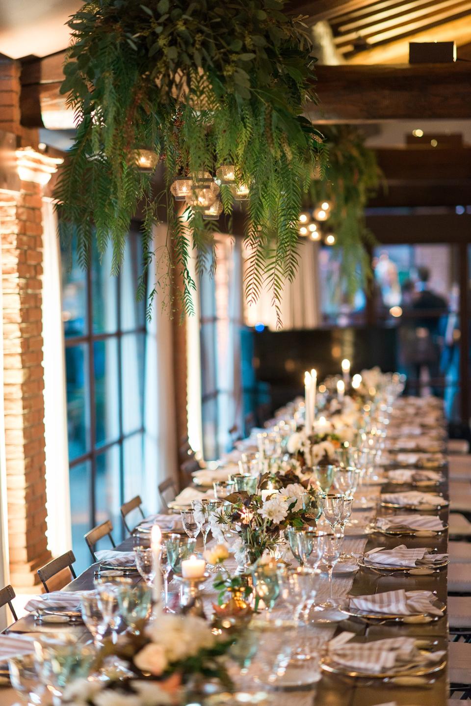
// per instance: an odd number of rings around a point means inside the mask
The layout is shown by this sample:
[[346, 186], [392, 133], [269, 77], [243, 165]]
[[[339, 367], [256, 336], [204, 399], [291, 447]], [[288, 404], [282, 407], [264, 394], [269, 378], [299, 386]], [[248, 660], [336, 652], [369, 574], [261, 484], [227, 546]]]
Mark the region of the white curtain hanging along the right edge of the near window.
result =
[[[166, 236], [166, 225], [154, 228], [154, 251], [162, 251]], [[149, 287], [154, 281], [153, 273], [149, 273]], [[177, 477], [172, 325], [169, 313], [161, 311], [156, 297], [152, 321], [147, 326], [144, 402], [145, 505], [150, 511], [161, 505], [159, 483]]]

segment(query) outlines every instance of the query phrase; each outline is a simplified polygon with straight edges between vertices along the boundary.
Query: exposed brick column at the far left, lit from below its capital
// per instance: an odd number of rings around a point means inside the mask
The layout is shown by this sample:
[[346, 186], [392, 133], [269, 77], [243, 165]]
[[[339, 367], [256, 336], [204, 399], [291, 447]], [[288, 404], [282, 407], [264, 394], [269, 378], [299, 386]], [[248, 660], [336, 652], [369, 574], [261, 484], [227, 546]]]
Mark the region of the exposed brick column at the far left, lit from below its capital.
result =
[[4, 406], [11, 583], [26, 591], [50, 553], [46, 538], [42, 390], [42, 187], [0, 191]]

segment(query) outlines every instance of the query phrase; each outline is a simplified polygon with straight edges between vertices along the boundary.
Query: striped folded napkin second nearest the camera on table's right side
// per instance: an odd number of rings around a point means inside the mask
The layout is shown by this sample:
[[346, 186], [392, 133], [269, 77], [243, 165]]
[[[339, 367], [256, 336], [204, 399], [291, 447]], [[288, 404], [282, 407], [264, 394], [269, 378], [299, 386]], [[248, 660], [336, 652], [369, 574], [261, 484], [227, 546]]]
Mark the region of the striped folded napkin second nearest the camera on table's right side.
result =
[[371, 596], [350, 597], [348, 605], [360, 611], [370, 613], [389, 613], [400, 616], [411, 616], [427, 613], [442, 616], [439, 608], [432, 605], [435, 596], [430, 591], [386, 591]]

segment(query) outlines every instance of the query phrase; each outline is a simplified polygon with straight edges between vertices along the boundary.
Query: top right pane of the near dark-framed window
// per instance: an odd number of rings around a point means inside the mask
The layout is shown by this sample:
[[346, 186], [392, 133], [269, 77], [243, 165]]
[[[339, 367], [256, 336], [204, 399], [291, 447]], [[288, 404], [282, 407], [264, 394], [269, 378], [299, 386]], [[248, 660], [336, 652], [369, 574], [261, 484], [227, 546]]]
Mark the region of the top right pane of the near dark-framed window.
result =
[[126, 239], [121, 270], [121, 329], [129, 331], [145, 325], [145, 301], [136, 300], [137, 280], [142, 270], [140, 235], [131, 232]]

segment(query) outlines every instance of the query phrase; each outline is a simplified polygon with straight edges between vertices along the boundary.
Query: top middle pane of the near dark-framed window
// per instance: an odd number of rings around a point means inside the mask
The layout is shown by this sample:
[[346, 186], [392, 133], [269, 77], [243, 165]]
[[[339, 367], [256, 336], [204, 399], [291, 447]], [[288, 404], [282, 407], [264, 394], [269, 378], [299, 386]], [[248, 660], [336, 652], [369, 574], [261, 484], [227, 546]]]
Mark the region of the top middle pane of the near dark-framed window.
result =
[[99, 261], [94, 241], [92, 251], [92, 317], [93, 333], [114, 333], [118, 328], [118, 280], [111, 277], [111, 246]]

